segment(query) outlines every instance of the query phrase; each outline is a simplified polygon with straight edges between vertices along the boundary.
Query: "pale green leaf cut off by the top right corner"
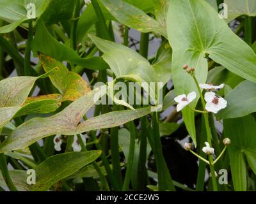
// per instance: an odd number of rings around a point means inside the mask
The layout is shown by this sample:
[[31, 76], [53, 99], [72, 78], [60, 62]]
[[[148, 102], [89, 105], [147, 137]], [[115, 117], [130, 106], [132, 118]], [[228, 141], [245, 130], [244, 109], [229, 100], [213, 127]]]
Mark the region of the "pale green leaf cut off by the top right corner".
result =
[[227, 22], [234, 20], [240, 15], [248, 15], [249, 17], [256, 16], [256, 3], [255, 0], [225, 0], [228, 8]]

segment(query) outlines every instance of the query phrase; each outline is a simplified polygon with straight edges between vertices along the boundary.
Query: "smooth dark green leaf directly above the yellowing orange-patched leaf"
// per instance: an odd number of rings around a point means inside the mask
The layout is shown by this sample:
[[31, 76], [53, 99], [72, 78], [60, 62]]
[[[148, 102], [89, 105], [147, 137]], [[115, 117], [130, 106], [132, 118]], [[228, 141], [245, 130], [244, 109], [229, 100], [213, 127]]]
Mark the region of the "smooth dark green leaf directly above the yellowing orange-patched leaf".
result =
[[106, 69], [108, 65], [102, 61], [99, 57], [81, 58], [75, 50], [59, 43], [51, 34], [47, 31], [44, 23], [39, 21], [36, 28], [35, 38], [32, 43], [32, 50], [34, 52], [42, 52], [47, 56], [62, 62], [68, 61], [83, 68], [88, 69]]

